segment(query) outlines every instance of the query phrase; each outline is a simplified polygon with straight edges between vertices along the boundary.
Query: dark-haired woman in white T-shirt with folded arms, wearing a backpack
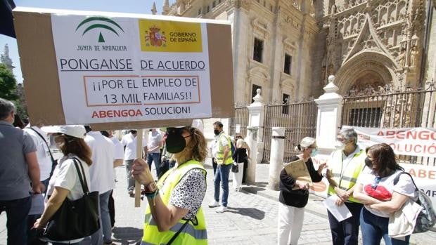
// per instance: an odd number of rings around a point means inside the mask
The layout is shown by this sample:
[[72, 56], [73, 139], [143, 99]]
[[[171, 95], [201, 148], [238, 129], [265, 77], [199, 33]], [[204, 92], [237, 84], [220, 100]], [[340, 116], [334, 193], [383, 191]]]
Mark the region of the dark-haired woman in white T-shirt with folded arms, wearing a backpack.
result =
[[416, 201], [415, 186], [406, 174], [395, 178], [404, 171], [395, 160], [392, 148], [377, 144], [366, 149], [364, 171], [357, 178], [354, 198], [364, 204], [360, 214], [360, 229], [364, 245], [380, 244], [383, 237], [385, 244], [409, 244], [410, 235], [404, 239], [389, 237], [387, 225], [391, 213], [402, 208], [409, 199]]

